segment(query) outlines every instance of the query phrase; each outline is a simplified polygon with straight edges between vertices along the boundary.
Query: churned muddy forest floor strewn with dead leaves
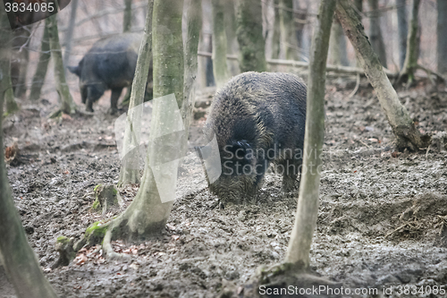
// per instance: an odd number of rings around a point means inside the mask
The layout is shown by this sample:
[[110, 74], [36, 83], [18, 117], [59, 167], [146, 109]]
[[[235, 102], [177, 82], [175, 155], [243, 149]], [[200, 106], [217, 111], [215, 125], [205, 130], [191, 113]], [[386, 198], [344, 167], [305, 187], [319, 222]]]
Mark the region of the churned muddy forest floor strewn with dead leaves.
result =
[[[393, 152], [391, 128], [366, 83], [352, 98], [351, 89], [336, 81], [326, 89], [311, 268], [351, 288], [382, 294], [391, 286], [392, 295], [384, 296], [447, 296], [428, 293], [434, 285], [447, 286], [446, 148]], [[423, 83], [398, 93], [421, 132], [447, 132], [447, 89], [433, 91]], [[92, 116], [53, 120], [47, 115], [55, 106], [43, 99], [23, 104], [4, 123], [5, 145], [17, 142], [21, 150], [17, 163], [7, 166], [13, 199], [60, 297], [215, 297], [224, 285], [246, 283], [260, 265], [283, 260], [297, 199], [284, 198], [281, 177], [269, 171], [256, 204], [223, 206], [207, 189], [182, 195], [163, 235], [145, 243], [114, 242], [129, 260], [107, 260], [97, 246], [82, 249], [69, 266], [52, 269], [55, 239], [79, 239], [103, 218], [90, 210], [95, 186], [117, 183], [117, 116], [105, 114], [108, 106], [104, 97]], [[192, 138], [203, 123], [193, 123]], [[188, 164], [182, 169], [194, 171]], [[189, 183], [203, 183], [200, 177], [189, 176]], [[137, 191], [138, 185], [124, 188], [124, 202]], [[418, 293], [399, 295], [405, 285], [417, 286]], [[15, 297], [1, 268], [0, 297]]]

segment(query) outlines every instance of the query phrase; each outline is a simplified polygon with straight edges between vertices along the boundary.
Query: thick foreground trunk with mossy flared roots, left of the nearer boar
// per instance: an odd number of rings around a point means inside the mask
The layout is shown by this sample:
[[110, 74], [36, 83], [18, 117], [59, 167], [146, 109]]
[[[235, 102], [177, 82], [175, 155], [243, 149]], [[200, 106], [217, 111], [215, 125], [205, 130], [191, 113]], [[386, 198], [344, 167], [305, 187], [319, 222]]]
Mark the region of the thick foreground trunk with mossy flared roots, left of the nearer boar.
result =
[[[108, 226], [103, 246], [116, 256], [110, 241], [147, 239], [164, 230], [173, 208], [179, 160], [186, 148], [179, 107], [183, 105], [183, 2], [155, 0], [152, 17], [154, 99], [148, 157], [139, 192]], [[162, 98], [163, 97], [163, 98]]]

